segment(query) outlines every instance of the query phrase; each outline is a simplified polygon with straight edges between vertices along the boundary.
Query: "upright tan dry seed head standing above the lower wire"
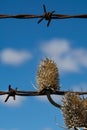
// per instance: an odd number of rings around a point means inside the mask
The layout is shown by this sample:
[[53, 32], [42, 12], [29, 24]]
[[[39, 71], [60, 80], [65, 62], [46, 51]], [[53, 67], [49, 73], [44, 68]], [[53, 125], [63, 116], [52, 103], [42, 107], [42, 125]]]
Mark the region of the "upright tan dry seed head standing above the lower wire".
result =
[[37, 71], [37, 85], [39, 91], [44, 89], [59, 90], [59, 73], [53, 60], [46, 58], [41, 61]]

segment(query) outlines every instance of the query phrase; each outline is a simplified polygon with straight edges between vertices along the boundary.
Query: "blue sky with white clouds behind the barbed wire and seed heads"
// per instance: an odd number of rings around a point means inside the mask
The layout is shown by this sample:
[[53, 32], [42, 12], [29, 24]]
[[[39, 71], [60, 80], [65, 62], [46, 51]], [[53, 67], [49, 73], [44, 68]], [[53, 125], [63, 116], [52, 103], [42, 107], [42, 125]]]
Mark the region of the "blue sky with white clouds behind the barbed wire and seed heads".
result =
[[[0, 14], [87, 14], [86, 0], [0, 0]], [[9, 84], [19, 90], [36, 91], [39, 62], [52, 58], [60, 72], [61, 90], [87, 91], [87, 20], [0, 19], [0, 90]], [[0, 97], [0, 130], [60, 130], [61, 112], [46, 97], [17, 97], [4, 103]], [[57, 102], [60, 97], [54, 96]]]

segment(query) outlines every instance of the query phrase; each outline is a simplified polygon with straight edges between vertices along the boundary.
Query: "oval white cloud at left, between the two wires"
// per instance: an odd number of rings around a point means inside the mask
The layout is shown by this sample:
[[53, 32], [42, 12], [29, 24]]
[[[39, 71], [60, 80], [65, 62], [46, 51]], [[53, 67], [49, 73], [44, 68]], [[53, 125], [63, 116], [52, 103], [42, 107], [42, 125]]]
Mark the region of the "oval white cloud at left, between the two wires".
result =
[[20, 65], [31, 58], [30, 52], [26, 50], [15, 50], [11, 48], [4, 49], [0, 52], [0, 61], [9, 65]]

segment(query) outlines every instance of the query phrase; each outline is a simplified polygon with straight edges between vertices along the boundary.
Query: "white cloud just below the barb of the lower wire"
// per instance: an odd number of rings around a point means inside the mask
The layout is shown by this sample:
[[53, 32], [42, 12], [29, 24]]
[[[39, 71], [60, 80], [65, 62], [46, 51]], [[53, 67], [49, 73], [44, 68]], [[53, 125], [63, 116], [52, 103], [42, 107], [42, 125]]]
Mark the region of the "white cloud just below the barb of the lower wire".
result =
[[13, 97], [9, 97], [8, 101], [5, 103], [4, 101], [5, 101], [6, 97], [7, 97], [7, 95], [0, 96], [0, 103], [2, 103], [3, 105], [6, 105], [6, 106], [10, 106], [10, 107], [21, 106], [23, 101], [26, 99], [25, 97], [16, 96], [16, 100], [13, 100]]

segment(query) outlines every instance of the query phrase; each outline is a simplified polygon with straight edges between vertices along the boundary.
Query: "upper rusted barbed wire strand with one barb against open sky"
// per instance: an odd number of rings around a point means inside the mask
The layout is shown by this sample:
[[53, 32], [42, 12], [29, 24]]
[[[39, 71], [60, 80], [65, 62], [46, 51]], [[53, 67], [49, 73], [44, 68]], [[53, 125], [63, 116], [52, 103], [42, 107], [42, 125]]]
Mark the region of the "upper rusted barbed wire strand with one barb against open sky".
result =
[[43, 5], [44, 13], [43, 15], [35, 15], [35, 14], [18, 14], [18, 15], [6, 15], [6, 14], [0, 14], [0, 19], [6, 19], [6, 18], [15, 18], [15, 19], [34, 19], [34, 18], [40, 18], [38, 20], [38, 24], [42, 22], [42, 20], [47, 20], [47, 27], [50, 25], [50, 22], [52, 19], [69, 19], [69, 18], [87, 18], [87, 14], [81, 14], [81, 15], [64, 15], [64, 14], [54, 14], [55, 10], [47, 12], [46, 6]]

